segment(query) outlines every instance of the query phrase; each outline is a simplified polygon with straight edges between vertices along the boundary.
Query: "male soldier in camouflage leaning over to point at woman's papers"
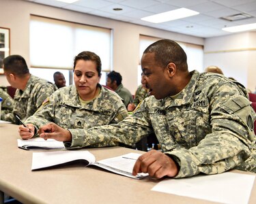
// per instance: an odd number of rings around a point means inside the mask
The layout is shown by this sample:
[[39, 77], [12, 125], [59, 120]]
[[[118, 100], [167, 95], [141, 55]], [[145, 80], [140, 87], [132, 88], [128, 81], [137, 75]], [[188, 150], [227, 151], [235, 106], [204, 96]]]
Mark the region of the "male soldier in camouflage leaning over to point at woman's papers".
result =
[[[46, 125], [40, 137], [65, 141], [66, 148], [132, 144], [154, 132], [162, 152], [140, 156], [133, 174], [188, 177], [240, 169], [256, 173], [255, 112], [245, 88], [224, 75], [188, 71], [186, 53], [174, 41], [150, 45], [141, 58], [151, 95], [118, 124], [55, 137], [62, 129]], [[54, 130], [53, 133], [47, 133]]]

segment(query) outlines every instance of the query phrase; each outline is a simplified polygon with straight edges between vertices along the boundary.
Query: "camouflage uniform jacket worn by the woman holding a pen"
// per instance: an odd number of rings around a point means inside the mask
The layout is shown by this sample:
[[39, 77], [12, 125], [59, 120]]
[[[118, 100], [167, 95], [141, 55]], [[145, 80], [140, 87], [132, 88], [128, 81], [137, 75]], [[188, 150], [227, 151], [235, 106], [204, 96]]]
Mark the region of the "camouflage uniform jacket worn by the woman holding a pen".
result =
[[74, 85], [60, 88], [25, 123], [32, 123], [39, 129], [48, 122], [54, 122], [63, 129], [79, 132], [79, 129], [83, 131], [92, 126], [115, 124], [126, 118], [128, 112], [120, 97], [112, 90], [100, 88], [98, 97], [86, 104], [79, 101]]

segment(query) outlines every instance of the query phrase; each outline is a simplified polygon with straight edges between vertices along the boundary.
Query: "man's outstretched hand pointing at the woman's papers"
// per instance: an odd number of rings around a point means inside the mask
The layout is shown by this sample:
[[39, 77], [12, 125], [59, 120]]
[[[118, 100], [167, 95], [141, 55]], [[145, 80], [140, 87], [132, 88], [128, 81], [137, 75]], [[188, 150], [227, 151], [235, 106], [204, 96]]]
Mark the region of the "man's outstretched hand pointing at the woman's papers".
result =
[[71, 133], [67, 131], [57, 124], [50, 122], [44, 126], [42, 126], [38, 130], [38, 134], [40, 137], [47, 139], [56, 139], [57, 141], [71, 141]]

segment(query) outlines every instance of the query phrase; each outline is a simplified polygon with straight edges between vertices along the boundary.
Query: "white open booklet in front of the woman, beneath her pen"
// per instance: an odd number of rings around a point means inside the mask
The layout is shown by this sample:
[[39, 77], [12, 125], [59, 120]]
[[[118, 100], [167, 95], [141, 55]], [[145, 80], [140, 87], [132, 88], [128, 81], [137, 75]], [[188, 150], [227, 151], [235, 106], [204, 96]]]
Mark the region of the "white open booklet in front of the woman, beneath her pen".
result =
[[47, 139], [37, 137], [33, 139], [17, 139], [18, 148], [24, 150], [42, 150], [42, 149], [65, 149], [62, 141], [56, 141], [55, 139]]

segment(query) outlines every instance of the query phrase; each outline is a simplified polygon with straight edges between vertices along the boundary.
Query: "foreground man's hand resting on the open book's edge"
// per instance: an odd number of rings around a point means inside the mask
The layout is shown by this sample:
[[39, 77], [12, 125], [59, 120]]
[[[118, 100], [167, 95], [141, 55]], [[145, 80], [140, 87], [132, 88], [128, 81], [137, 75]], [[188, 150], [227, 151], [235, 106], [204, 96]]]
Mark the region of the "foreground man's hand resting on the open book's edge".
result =
[[178, 173], [178, 168], [169, 156], [156, 150], [150, 150], [150, 152], [139, 156], [133, 167], [132, 175], [141, 172], [149, 173], [150, 176], [159, 179], [165, 175], [174, 177]]

